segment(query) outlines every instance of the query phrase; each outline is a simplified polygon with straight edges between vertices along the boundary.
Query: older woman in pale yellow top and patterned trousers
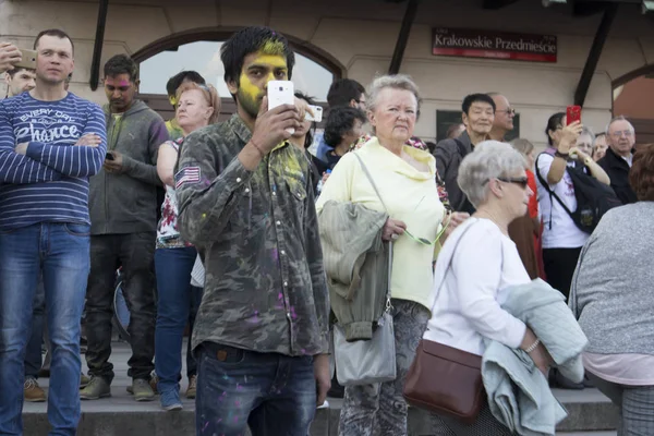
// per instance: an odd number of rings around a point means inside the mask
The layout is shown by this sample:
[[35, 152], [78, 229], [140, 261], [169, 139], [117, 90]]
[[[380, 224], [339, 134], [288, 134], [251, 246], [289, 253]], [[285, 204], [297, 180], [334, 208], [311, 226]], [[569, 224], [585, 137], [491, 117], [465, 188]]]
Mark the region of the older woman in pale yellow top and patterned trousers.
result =
[[[397, 378], [346, 387], [339, 434], [401, 436], [407, 435], [402, 388], [429, 318], [432, 263], [446, 210], [435, 183], [434, 157], [407, 145], [420, 114], [416, 85], [405, 75], [380, 76], [367, 96], [374, 136], [340, 159], [325, 183], [317, 208], [322, 211], [327, 202], [354, 203], [389, 215], [382, 239], [395, 241], [390, 292]], [[378, 195], [358, 157], [370, 171]]]

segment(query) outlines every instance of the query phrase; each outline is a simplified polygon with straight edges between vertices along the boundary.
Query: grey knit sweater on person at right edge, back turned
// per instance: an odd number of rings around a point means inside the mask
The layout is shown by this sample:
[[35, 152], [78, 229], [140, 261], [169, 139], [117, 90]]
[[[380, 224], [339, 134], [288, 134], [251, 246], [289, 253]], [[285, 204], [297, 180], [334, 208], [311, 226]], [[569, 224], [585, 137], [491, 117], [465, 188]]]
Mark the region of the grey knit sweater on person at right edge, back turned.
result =
[[609, 210], [584, 245], [570, 308], [585, 351], [654, 355], [654, 202]]

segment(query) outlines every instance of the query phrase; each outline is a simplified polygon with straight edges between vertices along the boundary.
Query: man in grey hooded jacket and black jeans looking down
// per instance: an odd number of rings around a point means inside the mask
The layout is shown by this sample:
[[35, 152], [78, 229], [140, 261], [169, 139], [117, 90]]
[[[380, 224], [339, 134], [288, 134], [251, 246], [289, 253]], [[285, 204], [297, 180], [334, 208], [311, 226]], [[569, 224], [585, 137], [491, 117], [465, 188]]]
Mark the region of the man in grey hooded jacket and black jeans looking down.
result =
[[111, 395], [111, 302], [116, 269], [122, 265], [123, 293], [131, 307], [129, 361], [136, 401], [154, 399], [148, 382], [155, 353], [154, 255], [157, 230], [157, 150], [169, 135], [161, 117], [134, 99], [138, 66], [124, 55], [105, 64], [107, 159], [90, 181], [90, 275], [86, 331], [90, 383], [81, 398]]

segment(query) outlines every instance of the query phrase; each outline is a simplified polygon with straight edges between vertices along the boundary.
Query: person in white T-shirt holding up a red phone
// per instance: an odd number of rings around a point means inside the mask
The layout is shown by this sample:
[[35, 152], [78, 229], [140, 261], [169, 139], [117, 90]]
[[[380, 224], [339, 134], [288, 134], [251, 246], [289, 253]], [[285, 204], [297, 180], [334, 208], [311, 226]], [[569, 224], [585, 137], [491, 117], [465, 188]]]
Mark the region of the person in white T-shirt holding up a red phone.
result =
[[[583, 125], [581, 121], [567, 123], [564, 112], [549, 117], [545, 134], [549, 147], [536, 158], [535, 173], [538, 190], [538, 205], [543, 217], [543, 263], [547, 282], [559, 290], [566, 299], [570, 293], [572, 275], [583, 244], [590, 234], [579, 229], [564, 206], [577, 209], [574, 185], [566, 170], [568, 167], [583, 167], [584, 171], [608, 184], [606, 172], [585, 153], [574, 145]], [[583, 385], [573, 384], [562, 377], [556, 383], [568, 389], [583, 389]]]

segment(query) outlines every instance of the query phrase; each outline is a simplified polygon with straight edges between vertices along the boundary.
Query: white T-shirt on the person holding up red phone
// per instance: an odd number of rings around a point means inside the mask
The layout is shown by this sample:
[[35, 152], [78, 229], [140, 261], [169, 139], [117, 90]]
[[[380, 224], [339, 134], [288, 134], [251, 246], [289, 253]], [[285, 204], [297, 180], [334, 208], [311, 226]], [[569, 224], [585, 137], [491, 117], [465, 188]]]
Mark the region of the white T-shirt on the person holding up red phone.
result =
[[[547, 181], [547, 174], [553, 161], [554, 156], [546, 153], [538, 155], [536, 159], [537, 171], [545, 181]], [[569, 162], [568, 165], [571, 166], [573, 164]], [[536, 186], [538, 191], [538, 208], [543, 216], [543, 249], [578, 249], [583, 246], [590, 234], [577, 227], [559, 202], [554, 196], [549, 196], [549, 193], [538, 180], [537, 174]], [[549, 184], [549, 187], [566, 204], [568, 209], [572, 211], [577, 210], [574, 186], [568, 171], [564, 172], [564, 178], [557, 184]]]

